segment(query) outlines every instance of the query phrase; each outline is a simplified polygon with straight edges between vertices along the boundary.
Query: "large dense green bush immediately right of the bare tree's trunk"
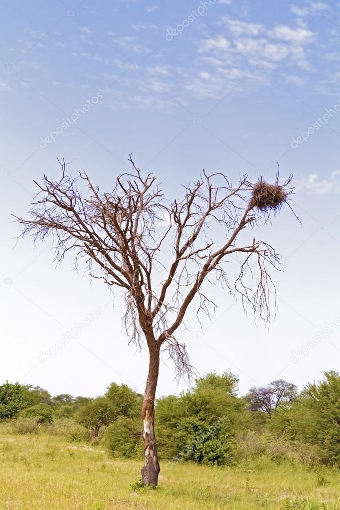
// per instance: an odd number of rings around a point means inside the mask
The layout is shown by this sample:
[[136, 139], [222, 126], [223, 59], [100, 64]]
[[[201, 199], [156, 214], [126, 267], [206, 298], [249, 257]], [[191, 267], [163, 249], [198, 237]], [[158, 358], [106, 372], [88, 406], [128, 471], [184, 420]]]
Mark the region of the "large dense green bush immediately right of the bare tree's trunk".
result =
[[229, 372], [208, 373], [180, 397], [159, 399], [155, 431], [161, 458], [230, 465], [236, 431], [255, 427], [244, 400], [236, 397], [237, 383]]

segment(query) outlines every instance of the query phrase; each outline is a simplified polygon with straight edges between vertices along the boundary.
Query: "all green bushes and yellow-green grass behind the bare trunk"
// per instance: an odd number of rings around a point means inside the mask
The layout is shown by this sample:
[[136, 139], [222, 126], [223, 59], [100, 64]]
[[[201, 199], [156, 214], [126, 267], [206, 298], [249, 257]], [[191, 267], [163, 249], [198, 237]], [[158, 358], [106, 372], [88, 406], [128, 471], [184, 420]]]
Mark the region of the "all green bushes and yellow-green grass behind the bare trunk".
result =
[[156, 495], [137, 477], [142, 395], [113, 382], [96, 398], [52, 397], [6, 382], [0, 508], [340, 508], [340, 375], [301, 392], [279, 379], [240, 397], [237, 385], [210, 373], [156, 401]]

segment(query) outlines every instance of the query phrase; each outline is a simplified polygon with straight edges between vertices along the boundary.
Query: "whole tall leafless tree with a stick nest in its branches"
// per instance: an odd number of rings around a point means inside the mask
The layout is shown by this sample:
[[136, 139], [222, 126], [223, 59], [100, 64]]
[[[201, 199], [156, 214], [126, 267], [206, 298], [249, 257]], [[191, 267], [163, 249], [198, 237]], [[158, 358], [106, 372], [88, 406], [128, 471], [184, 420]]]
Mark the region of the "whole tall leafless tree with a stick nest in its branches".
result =
[[[142, 404], [142, 480], [155, 486], [160, 466], [154, 400], [161, 352], [168, 350], [178, 376], [191, 372], [186, 346], [177, 335], [192, 301], [197, 312], [211, 317], [216, 304], [203, 283], [212, 279], [231, 293], [240, 292], [244, 306], [249, 304], [254, 314], [270, 320], [268, 267], [277, 267], [279, 256], [253, 235], [245, 239], [243, 231], [261, 218], [266, 221], [271, 211], [286, 203], [292, 176], [279, 185], [277, 175], [271, 185], [263, 180], [252, 184], [244, 175], [233, 186], [226, 175], [203, 170], [196, 183], [183, 186], [181, 198], [168, 202], [156, 177], [143, 175], [131, 155], [129, 161], [132, 173], [118, 176], [113, 191], [101, 193], [85, 171], [76, 178], [69, 175], [63, 160], [60, 180], [44, 175], [35, 182], [39, 192], [29, 216], [17, 220], [22, 235], [32, 236], [35, 242], [53, 236], [57, 262], [72, 251], [75, 267], [83, 257], [90, 276], [124, 289], [127, 336], [138, 346], [146, 342], [149, 351]], [[164, 257], [169, 245], [172, 256]], [[244, 259], [232, 283], [224, 262], [236, 254]], [[257, 282], [251, 291], [248, 276], [252, 278], [254, 269]]]

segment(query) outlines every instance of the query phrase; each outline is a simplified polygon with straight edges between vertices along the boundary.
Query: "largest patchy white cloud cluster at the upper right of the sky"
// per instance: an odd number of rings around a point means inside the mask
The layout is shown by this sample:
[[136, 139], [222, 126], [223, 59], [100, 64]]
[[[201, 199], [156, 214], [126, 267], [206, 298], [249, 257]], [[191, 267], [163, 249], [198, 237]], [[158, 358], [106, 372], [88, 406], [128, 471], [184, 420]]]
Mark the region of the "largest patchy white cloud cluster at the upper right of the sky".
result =
[[220, 23], [227, 30], [226, 36], [213, 35], [197, 43], [198, 69], [186, 83], [186, 89], [196, 95], [221, 97], [245, 76], [267, 84], [264, 73], [252, 75], [259, 63], [267, 71], [280, 71], [285, 83], [296, 86], [305, 83], [300, 74], [315, 71], [309, 61], [309, 47], [316, 42], [311, 30], [286, 24], [266, 27], [226, 15]]

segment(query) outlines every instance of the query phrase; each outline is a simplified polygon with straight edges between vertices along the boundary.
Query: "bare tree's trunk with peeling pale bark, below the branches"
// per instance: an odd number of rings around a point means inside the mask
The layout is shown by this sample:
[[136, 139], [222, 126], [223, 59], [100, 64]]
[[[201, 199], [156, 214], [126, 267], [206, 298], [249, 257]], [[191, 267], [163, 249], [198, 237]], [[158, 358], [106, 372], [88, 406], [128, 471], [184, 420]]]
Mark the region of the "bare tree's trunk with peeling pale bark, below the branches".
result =
[[146, 379], [144, 393], [142, 420], [143, 420], [143, 439], [145, 462], [142, 469], [143, 485], [155, 487], [158, 482], [160, 464], [158, 462], [158, 453], [156, 448], [156, 439], [154, 436], [154, 398], [158, 381], [158, 372], [160, 366], [159, 350], [150, 351], [149, 372]]

